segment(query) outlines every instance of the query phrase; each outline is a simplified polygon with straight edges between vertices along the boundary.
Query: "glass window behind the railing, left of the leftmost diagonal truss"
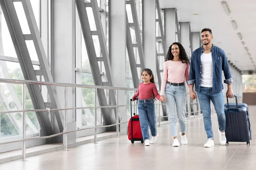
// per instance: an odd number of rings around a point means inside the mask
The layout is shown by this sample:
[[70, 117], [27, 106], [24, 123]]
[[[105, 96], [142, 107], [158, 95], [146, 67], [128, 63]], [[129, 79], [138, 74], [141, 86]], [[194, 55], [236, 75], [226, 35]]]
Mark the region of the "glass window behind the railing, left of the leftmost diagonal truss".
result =
[[[0, 78], [24, 79], [19, 63], [0, 61], [0, 64]], [[35, 69], [38, 69], [38, 67], [39, 66], [34, 66]], [[1, 83], [0, 87], [1, 111], [22, 110], [22, 85]], [[27, 89], [26, 109], [34, 109], [32, 100], [29, 96], [29, 92]], [[27, 112], [27, 116], [28, 117], [26, 117], [26, 134], [38, 133], [39, 124], [35, 112]], [[1, 133], [3, 133], [4, 137], [20, 135], [22, 132], [22, 113], [3, 114], [1, 115], [0, 123]], [[10, 129], [6, 130], [6, 128]], [[15, 128], [15, 130], [13, 128]]]

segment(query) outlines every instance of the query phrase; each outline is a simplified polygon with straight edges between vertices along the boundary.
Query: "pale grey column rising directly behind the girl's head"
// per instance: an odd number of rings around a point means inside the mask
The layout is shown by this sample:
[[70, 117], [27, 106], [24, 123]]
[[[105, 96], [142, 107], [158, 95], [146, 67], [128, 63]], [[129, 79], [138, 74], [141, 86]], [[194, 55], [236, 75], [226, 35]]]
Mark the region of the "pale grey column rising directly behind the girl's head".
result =
[[142, 8], [145, 68], [150, 68], [156, 76], [156, 1], [145, 0]]

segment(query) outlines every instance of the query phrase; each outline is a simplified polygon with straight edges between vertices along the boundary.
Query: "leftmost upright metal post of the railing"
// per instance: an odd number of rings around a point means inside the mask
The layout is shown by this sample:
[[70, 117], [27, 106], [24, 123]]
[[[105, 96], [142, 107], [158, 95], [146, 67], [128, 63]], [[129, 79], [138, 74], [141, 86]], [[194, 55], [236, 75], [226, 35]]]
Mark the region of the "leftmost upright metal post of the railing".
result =
[[[26, 109], [26, 84], [22, 85], [22, 107]], [[26, 139], [26, 112], [22, 113], [22, 139]], [[22, 161], [26, 161], [26, 142], [22, 142]]]

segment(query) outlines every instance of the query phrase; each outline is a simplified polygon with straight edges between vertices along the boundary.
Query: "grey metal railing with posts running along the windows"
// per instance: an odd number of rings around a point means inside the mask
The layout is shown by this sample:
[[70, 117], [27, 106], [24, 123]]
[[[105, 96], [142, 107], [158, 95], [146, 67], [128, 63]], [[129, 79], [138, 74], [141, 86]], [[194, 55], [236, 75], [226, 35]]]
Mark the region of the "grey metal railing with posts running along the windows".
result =
[[[81, 85], [81, 84], [70, 84], [70, 83], [56, 83], [56, 82], [40, 82], [40, 81], [32, 81], [32, 80], [16, 80], [16, 79], [2, 79], [0, 78], [0, 83], [14, 83], [14, 84], [22, 84], [23, 85], [23, 93], [22, 93], [22, 105], [23, 105], [23, 110], [16, 110], [16, 111], [0, 111], [1, 113], [16, 113], [16, 112], [22, 112], [22, 120], [23, 120], [23, 133], [22, 133], [22, 138], [23, 139], [17, 139], [13, 141], [6, 141], [6, 142], [0, 142], [0, 144], [8, 144], [8, 143], [14, 143], [14, 142], [22, 142], [22, 160], [25, 161], [26, 159], [26, 145], [25, 142], [29, 140], [35, 140], [35, 139], [48, 139], [52, 138], [55, 136], [63, 135], [63, 144], [64, 144], [64, 150], [67, 150], [67, 133], [72, 133], [72, 132], [77, 132], [77, 131], [82, 131], [82, 130], [89, 130], [89, 129], [94, 129], [94, 143], [96, 143], [97, 140], [97, 128], [103, 128], [103, 127], [112, 127], [116, 125], [116, 136], [119, 137], [119, 125], [125, 124], [128, 122], [122, 122], [118, 123], [119, 121], [119, 109], [120, 107], [126, 107], [130, 105], [119, 105], [119, 90], [124, 90], [124, 91], [137, 91], [137, 88], [116, 88], [116, 87], [107, 87], [107, 86], [97, 86], [97, 85]], [[57, 108], [57, 109], [25, 109], [26, 108], [26, 85], [49, 85], [49, 86], [61, 86], [64, 87], [64, 96], [65, 96], [65, 108]], [[73, 88], [94, 88], [94, 102], [95, 105], [92, 107], [78, 107], [78, 108], [68, 108], [67, 107], [67, 88], [68, 87], [73, 87]], [[117, 104], [116, 105], [108, 105], [108, 106], [96, 106], [96, 99], [97, 99], [97, 89], [111, 89], [111, 90], [117, 90], [116, 93], [116, 98], [117, 98]], [[189, 103], [190, 104], [190, 103]], [[194, 105], [198, 104], [198, 102], [193, 103]], [[135, 107], [136, 104], [132, 105]], [[165, 105], [164, 103], [156, 103], [155, 105]], [[94, 108], [95, 109], [95, 114], [94, 114], [94, 119], [95, 119], [95, 125], [94, 127], [85, 127], [81, 129], [76, 129], [76, 130], [70, 130], [67, 131], [67, 111], [68, 110], [76, 110], [76, 109], [90, 109]], [[116, 108], [116, 123], [112, 125], [104, 125], [104, 126], [97, 126], [97, 108]], [[26, 138], [26, 112], [50, 112], [50, 111], [65, 111], [64, 112], [64, 130], [61, 133], [56, 133], [50, 136], [37, 136], [37, 137], [31, 137], [31, 138]], [[137, 111], [137, 110], [136, 110]], [[196, 112], [196, 111], [195, 111]], [[186, 113], [189, 113], [186, 112]], [[195, 116], [195, 114], [194, 114]], [[160, 118], [167, 117], [167, 116], [160, 116], [160, 106], [159, 106], [159, 115], [156, 116], [156, 118], [159, 118], [159, 127], [160, 127]]]

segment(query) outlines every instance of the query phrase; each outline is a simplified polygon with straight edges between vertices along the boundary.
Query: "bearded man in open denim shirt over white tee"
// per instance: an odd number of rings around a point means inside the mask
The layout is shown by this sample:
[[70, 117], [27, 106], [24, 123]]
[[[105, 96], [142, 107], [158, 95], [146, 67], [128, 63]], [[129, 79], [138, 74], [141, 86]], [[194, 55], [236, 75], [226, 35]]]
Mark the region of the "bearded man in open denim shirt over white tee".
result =
[[207, 143], [204, 147], [214, 146], [210, 100], [214, 105], [218, 117], [219, 135], [221, 145], [227, 142], [225, 136], [226, 117], [224, 113], [224, 97], [222, 93], [222, 70], [224, 71], [224, 83], [227, 84], [226, 96], [233, 98], [231, 83], [233, 78], [227, 57], [221, 48], [212, 45], [212, 30], [204, 28], [201, 31], [201, 41], [203, 45], [192, 53], [189, 71], [190, 97], [196, 98], [194, 92], [198, 93], [198, 99], [204, 116], [204, 129], [207, 134]]

